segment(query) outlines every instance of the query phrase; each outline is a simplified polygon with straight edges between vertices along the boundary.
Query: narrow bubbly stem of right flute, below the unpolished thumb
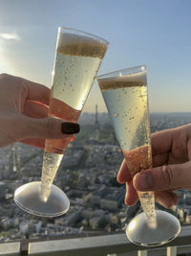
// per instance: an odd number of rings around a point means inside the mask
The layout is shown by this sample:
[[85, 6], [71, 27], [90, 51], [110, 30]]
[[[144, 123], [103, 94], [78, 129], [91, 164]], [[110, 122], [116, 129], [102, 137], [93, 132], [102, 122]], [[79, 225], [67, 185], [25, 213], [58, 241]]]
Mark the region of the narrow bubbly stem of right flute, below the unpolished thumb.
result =
[[143, 212], [145, 214], [148, 225], [151, 228], [157, 227], [157, 219], [155, 212], [155, 196], [153, 192], [138, 193]]

